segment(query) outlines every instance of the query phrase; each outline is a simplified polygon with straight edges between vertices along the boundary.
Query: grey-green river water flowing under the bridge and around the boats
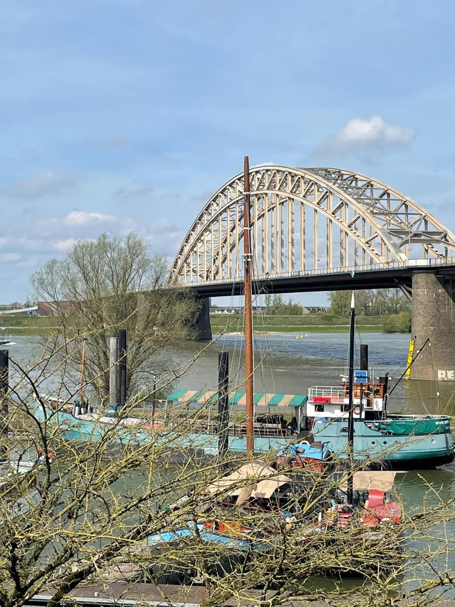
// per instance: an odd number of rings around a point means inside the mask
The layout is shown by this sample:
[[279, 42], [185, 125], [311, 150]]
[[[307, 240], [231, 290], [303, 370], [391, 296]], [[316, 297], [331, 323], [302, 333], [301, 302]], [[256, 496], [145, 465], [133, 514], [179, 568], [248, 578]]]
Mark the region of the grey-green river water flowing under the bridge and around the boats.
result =
[[[255, 392], [306, 394], [312, 385], [337, 385], [344, 375], [348, 353], [346, 333], [271, 334], [255, 337]], [[356, 352], [360, 340], [369, 345], [369, 363], [374, 377], [389, 372], [391, 386], [398, 381], [406, 367], [408, 334], [362, 333], [356, 336]], [[41, 348], [36, 337], [14, 337], [16, 345], [10, 347], [13, 359], [33, 360]], [[232, 387], [241, 385], [244, 378], [242, 337], [228, 334], [214, 344], [190, 343], [169, 353], [174, 368], [191, 361], [204, 348], [203, 353], [181, 377], [175, 380], [175, 389], [212, 390], [217, 385], [217, 361], [221, 350], [229, 351]], [[158, 385], [160, 382], [158, 381]], [[240, 388], [241, 389], [241, 388]], [[436, 381], [401, 381], [389, 401], [389, 409], [403, 413], [448, 413], [455, 415], [455, 384]], [[455, 463], [437, 470], [411, 471], [397, 475], [397, 492], [403, 500], [405, 512], [435, 506], [439, 500], [450, 500], [455, 494]], [[434, 529], [433, 538], [454, 538], [455, 523]], [[419, 548], [420, 546], [417, 546]], [[439, 560], [439, 569], [447, 566], [446, 558]], [[450, 562], [450, 560], [449, 560]], [[434, 564], [434, 563], [433, 563]], [[426, 572], [421, 573], [425, 577]], [[430, 573], [428, 574], [430, 575]], [[431, 576], [432, 577], [432, 576]]]

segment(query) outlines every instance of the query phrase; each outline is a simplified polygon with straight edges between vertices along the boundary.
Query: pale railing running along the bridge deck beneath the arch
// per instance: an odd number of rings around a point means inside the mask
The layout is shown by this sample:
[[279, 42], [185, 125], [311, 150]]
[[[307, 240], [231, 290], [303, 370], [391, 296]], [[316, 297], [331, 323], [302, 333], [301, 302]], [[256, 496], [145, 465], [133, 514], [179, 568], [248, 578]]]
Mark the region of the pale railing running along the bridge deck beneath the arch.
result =
[[[278, 274], [254, 274], [254, 280], [270, 280], [275, 278], [292, 278], [306, 276], [323, 276], [324, 274], [350, 274], [359, 272], [372, 272], [381, 270], [400, 270], [403, 268], [433, 268], [440, 266], [455, 266], [455, 257], [440, 257], [434, 259], [407, 259], [404, 261], [390, 260], [388, 262], [368, 263], [365, 265], [339, 266], [336, 268], [314, 268], [313, 270], [280, 272]], [[192, 280], [191, 282], [179, 282], [175, 286], [194, 287], [198, 284], [221, 285], [223, 283], [240, 282], [242, 276], [227, 277], [215, 280]]]

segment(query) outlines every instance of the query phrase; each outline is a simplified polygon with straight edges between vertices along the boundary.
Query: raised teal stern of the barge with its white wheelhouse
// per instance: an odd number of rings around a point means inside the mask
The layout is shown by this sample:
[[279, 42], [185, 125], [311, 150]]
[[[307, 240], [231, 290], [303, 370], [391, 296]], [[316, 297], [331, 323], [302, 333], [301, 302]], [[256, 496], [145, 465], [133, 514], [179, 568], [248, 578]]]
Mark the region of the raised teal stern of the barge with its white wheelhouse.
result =
[[[397, 415], [386, 407], [387, 379], [354, 381], [354, 459], [389, 467], [431, 468], [455, 458], [448, 415]], [[349, 384], [313, 386], [308, 391], [306, 423], [314, 439], [346, 456]]]

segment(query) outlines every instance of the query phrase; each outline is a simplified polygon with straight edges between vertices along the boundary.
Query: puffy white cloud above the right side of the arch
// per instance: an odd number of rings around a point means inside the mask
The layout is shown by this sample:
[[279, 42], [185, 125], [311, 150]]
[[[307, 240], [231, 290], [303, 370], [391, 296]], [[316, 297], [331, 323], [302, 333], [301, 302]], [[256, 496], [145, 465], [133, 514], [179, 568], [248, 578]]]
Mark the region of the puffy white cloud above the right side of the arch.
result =
[[369, 120], [353, 118], [331, 137], [326, 137], [316, 148], [318, 155], [357, 154], [365, 151], [386, 151], [407, 146], [414, 137], [414, 129], [391, 126], [380, 116]]

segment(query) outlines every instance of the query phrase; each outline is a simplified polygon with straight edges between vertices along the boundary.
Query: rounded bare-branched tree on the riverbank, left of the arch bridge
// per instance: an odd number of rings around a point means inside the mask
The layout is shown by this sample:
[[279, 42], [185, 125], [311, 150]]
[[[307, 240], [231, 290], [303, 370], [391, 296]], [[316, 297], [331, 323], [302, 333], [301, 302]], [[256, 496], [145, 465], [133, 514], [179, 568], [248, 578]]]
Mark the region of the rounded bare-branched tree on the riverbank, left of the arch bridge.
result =
[[[95, 242], [79, 240], [65, 259], [52, 259], [32, 275], [36, 297], [51, 302], [56, 316], [52, 338], [45, 339], [53, 359], [60, 355], [78, 370], [86, 337], [87, 378], [100, 401], [109, 395], [108, 338], [118, 327], [128, 331], [131, 393], [152, 385], [167, 349], [192, 336], [198, 303], [187, 292], [166, 288], [166, 279], [166, 258], [150, 256], [149, 243], [133, 232], [124, 239], [103, 234]], [[67, 344], [57, 353], [55, 340]]]

